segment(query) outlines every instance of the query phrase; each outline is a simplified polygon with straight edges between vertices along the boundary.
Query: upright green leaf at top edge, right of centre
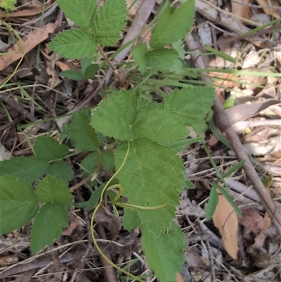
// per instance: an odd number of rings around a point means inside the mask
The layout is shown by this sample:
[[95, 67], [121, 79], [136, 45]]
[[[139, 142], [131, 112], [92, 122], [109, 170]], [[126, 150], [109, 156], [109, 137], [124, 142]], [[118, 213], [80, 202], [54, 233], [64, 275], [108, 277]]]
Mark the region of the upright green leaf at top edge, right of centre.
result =
[[188, 0], [179, 8], [168, 7], [164, 10], [152, 30], [150, 46], [153, 49], [172, 44], [182, 39], [193, 25], [195, 17], [195, 0]]

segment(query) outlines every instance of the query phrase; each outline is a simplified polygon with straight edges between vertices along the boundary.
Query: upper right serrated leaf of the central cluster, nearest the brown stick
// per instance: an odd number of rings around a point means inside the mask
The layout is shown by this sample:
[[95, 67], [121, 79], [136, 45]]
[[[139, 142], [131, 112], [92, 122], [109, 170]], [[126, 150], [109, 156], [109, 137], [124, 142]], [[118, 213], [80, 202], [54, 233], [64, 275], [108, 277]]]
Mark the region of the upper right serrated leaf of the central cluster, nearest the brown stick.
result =
[[174, 89], [164, 98], [164, 106], [173, 109], [186, 125], [200, 124], [215, 97], [213, 87], [188, 86]]

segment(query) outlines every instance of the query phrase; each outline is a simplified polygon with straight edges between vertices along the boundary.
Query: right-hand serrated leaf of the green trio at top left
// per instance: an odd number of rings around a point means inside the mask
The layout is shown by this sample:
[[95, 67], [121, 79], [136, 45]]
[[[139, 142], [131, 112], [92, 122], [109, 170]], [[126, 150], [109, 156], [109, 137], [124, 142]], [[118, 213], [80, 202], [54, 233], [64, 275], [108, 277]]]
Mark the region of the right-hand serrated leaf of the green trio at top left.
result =
[[98, 44], [111, 46], [122, 38], [120, 32], [125, 26], [126, 13], [125, 0], [105, 1], [93, 16], [93, 36]]

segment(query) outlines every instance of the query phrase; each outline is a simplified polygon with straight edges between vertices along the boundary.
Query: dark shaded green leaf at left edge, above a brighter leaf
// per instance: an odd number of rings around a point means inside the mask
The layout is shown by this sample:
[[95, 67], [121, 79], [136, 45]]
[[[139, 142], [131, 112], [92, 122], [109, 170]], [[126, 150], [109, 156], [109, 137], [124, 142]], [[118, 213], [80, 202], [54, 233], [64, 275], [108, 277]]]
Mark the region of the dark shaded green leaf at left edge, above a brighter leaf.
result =
[[49, 166], [48, 160], [34, 157], [11, 158], [0, 162], [0, 175], [13, 175], [32, 184], [46, 173]]

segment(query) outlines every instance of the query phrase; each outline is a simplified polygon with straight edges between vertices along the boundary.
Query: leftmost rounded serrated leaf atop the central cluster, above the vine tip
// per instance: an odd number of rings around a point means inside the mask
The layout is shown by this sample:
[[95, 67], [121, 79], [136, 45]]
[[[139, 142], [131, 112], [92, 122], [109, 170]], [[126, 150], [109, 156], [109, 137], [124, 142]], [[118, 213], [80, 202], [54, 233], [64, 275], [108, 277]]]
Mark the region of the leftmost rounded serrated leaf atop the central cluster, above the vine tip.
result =
[[119, 140], [132, 139], [131, 125], [136, 116], [136, 105], [132, 91], [114, 92], [93, 111], [91, 126], [105, 136]]

